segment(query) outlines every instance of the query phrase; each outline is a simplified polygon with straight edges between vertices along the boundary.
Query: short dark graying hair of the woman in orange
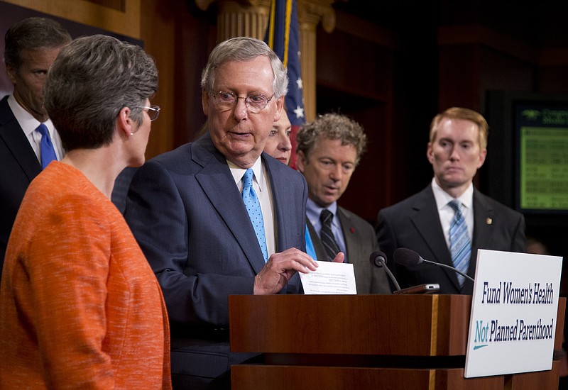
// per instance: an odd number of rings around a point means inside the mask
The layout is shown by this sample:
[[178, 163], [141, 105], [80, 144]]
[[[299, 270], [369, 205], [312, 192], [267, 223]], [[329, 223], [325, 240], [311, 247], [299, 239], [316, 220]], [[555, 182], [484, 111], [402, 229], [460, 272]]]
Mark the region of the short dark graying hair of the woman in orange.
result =
[[111, 143], [124, 107], [141, 123], [146, 99], [158, 91], [154, 60], [136, 45], [107, 35], [77, 38], [50, 67], [44, 105], [66, 150]]

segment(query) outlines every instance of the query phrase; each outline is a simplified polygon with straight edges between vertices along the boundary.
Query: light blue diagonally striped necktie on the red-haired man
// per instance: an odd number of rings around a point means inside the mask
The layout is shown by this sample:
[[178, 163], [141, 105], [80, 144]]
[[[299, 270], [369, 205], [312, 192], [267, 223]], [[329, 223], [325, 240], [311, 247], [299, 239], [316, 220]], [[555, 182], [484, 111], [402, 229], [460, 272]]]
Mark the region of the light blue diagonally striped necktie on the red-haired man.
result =
[[[467, 273], [469, 268], [469, 257], [471, 257], [471, 243], [467, 234], [466, 218], [461, 214], [461, 204], [459, 201], [451, 201], [448, 204], [455, 211], [452, 223], [449, 225], [449, 249], [452, 252], [452, 262], [459, 271]], [[457, 275], [459, 285], [464, 285], [465, 278]]]

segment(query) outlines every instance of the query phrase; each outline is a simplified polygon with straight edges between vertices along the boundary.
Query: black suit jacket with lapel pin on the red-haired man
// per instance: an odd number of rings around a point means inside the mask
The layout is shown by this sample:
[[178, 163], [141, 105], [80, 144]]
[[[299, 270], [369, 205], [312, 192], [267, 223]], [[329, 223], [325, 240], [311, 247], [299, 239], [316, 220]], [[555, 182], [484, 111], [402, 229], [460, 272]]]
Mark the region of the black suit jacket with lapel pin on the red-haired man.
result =
[[[395, 249], [405, 247], [425, 260], [453, 267], [430, 184], [417, 194], [378, 212], [377, 238], [388, 259], [393, 259]], [[525, 218], [474, 189], [474, 235], [467, 271], [472, 278], [475, 277], [478, 249], [525, 252]], [[473, 294], [473, 283], [466, 280], [460, 288], [456, 273], [451, 269], [425, 263], [413, 267], [394, 261], [388, 264], [401, 289], [438, 283], [439, 294]]]

